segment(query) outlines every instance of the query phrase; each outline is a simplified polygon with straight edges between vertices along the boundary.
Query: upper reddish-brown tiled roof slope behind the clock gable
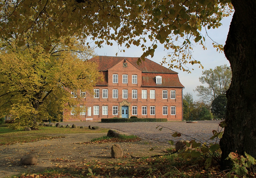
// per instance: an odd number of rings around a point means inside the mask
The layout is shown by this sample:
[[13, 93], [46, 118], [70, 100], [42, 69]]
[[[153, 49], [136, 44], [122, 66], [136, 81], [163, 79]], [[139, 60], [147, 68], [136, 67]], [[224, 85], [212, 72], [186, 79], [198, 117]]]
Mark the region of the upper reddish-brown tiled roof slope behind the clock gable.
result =
[[99, 71], [107, 71], [120, 61], [124, 60], [124, 58], [135, 65], [138, 69], [142, 70], [142, 72], [178, 74], [177, 72], [167, 69], [166, 67], [147, 58], [145, 58], [145, 61], [141, 61], [142, 63], [140, 65], [137, 64], [137, 57], [96, 56], [89, 59], [89, 61], [97, 62], [99, 64]]

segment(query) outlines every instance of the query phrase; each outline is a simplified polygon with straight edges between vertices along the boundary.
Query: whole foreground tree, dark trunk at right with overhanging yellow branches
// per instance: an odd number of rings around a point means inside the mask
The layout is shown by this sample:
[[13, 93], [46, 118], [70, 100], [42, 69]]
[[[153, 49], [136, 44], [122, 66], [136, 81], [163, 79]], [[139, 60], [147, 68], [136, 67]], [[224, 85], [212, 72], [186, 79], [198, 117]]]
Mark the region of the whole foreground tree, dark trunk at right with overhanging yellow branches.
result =
[[[48, 51], [59, 38], [77, 33], [80, 40], [91, 37], [95, 44], [140, 46], [144, 57], [154, 55], [157, 44], [170, 50], [163, 63], [187, 70], [186, 64], [201, 63], [191, 57], [192, 42], [205, 49], [202, 29], [218, 28], [220, 20], [234, 8], [224, 53], [229, 60], [232, 81], [227, 91], [225, 132], [220, 141], [222, 168], [230, 165], [228, 154], [256, 157], [255, 95], [255, 2], [248, 0], [163, 0], [163, 1], [0, 1], [0, 36], [18, 34], [17, 46], [26, 39], [42, 44]], [[147, 40], [149, 38], [149, 40]], [[69, 38], [65, 39], [69, 43]], [[148, 41], [149, 43], [146, 43]], [[181, 43], [179, 43], [181, 42]], [[89, 43], [88, 43], [89, 44]], [[214, 44], [223, 50], [220, 44]], [[140, 62], [140, 60], [138, 62]], [[250, 143], [250, 144], [248, 144]]]

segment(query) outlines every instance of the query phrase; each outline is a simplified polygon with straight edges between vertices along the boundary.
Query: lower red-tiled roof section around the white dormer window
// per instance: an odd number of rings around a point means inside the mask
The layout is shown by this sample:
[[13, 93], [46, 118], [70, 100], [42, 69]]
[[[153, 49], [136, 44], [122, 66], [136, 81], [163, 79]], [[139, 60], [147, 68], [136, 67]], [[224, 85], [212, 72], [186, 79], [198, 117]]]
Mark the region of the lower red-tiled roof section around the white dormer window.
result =
[[[156, 76], [162, 76], [162, 84], [156, 84]], [[163, 73], [142, 73], [142, 86], [168, 86], [168, 87], [184, 87], [180, 81], [178, 74]]]

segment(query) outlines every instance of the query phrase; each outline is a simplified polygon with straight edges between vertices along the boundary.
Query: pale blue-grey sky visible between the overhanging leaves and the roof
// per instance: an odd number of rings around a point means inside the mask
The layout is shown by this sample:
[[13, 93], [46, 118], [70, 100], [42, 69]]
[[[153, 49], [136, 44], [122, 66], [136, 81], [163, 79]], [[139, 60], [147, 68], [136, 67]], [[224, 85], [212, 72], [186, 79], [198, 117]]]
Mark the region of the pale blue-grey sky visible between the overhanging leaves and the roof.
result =
[[[208, 35], [211, 37], [212, 40], [218, 42], [219, 44], [225, 44], [227, 39], [227, 34], [229, 30], [229, 25], [231, 22], [232, 16], [225, 17], [221, 20], [222, 26], [218, 29], [210, 29], [207, 30]], [[204, 35], [204, 32], [202, 32]], [[226, 59], [224, 53], [219, 53], [216, 51], [216, 48], [212, 46], [212, 41], [208, 37], [206, 38], [206, 48], [207, 50], [203, 50], [200, 44], [193, 47], [193, 58], [197, 61], [200, 61], [201, 64], [204, 66], [204, 69], [198, 68], [197, 64], [193, 66], [187, 64], [188, 68], [194, 68], [191, 70], [191, 73], [188, 74], [187, 72], [179, 71], [178, 69], [173, 69], [173, 71], [178, 72], [180, 82], [185, 86], [183, 89], [183, 94], [190, 92], [193, 94], [194, 100], [199, 99], [197, 97], [197, 92], [194, 92], [196, 86], [201, 85], [199, 82], [199, 77], [202, 74], [202, 70], [209, 70], [214, 69], [216, 66], [227, 64], [230, 66], [229, 61]], [[120, 48], [120, 47], [119, 47]], [[113, 46], [104, 45], [103, 48], [96, 48], [95, 53], [98, 55], [106, 55], [106, 56], [116, 56], [116, 53], [119, 52], [119, 48], [115, 42], [113, 42]], [[126, 47], [121, 47], [120, 49], [125, 49], [125, 52], [119, 52], [118, 56], [122, 57], [140, 57], [143, 53], [141, 47], [131, 46], [131, 48], [127, 49]], [[159, 63], [162, 61], [163, 57], [167, 54], [168, 50], [164, 51], [163, 46], [160, 46], [158, 43], [158, 47], [155, 51], [154, 57], [148, 56], [147, 58]], [[170, 52], [170, 51], [169, 51]]]

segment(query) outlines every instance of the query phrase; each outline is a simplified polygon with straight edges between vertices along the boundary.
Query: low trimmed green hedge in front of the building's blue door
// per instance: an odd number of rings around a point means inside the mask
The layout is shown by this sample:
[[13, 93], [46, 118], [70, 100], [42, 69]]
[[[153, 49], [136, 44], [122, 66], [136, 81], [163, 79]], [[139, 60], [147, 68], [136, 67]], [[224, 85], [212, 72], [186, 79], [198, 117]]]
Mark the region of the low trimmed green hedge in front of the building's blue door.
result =
[[166, 118], [102, 118], [101, 122], [167, 122]]

